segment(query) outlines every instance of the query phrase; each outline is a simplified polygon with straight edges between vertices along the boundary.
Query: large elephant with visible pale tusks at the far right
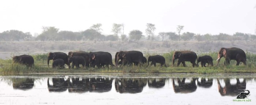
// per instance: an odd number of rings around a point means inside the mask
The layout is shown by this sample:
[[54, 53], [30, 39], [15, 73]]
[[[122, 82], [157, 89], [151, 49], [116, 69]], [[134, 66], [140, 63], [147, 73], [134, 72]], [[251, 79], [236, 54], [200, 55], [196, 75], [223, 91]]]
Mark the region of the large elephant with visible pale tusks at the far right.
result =
[[240, 62], [243, 62], [244, 65], [246, 65], [246, 54], [240, 48], [221, 48], [218, 53], [217, 65], [219, 64], [219, 61], [221, 61], [221, 57], [225, 57], [224, 65], [229, 65], [230, 60], [236, 60], [237, 66]]

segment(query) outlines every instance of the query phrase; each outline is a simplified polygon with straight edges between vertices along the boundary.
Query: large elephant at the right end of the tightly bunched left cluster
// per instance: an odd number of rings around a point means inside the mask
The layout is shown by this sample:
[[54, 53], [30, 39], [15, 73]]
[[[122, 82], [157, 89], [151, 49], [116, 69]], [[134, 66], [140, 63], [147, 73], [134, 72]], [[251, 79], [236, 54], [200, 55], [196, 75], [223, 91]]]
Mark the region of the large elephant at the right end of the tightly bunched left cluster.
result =
[[109, 68], [109, 65], [114, 66], [112, 62], [112, 55], [109, 52], [90, 52], [89, 63], [93, 68], [97, 65], [98, 68], [106, 65]]

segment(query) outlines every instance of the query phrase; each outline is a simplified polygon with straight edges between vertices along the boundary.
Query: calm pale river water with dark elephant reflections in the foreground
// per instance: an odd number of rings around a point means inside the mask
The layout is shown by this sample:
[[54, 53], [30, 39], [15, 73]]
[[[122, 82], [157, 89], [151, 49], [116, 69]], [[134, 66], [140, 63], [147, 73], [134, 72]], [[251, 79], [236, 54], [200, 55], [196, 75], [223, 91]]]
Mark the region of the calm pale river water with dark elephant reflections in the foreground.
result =
[[[255, 104], [253, 74], [184, 75], [0, 76], [0, 105]], [[246, 100], [251, 102], [233, 102], [244, 89], [250, 91]]]

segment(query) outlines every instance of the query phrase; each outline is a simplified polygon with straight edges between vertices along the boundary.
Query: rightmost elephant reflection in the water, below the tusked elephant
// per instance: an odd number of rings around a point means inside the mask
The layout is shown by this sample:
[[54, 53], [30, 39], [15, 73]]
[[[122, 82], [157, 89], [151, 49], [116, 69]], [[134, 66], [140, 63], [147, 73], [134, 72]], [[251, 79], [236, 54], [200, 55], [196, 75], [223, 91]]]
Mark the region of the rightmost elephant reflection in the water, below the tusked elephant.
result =
[[230, 84], [230, 78], [224, 78], [225, 86], [222, 88], [219, 78], [217, 78], [218, 90], [221, 96], [237, 96], [246, 89], [246, 79], [240, 83], [240, 80], [236, 78], [236, 84]]

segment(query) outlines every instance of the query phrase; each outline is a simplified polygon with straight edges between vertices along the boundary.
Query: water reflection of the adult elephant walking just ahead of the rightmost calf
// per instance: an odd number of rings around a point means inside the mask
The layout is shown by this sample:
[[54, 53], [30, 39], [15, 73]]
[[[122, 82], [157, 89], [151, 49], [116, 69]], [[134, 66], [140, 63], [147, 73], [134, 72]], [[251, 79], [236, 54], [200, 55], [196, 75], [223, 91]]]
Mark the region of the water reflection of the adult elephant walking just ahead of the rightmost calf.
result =
[[185, 80], [188, 78], [177, 78], [178, 85], [175, 85], [175, 80], [173, 79], [173, 90], [175, 93], [192, 93], [197, 89], [196, 80], [197, 78], [192, 78], [188, 83]]

